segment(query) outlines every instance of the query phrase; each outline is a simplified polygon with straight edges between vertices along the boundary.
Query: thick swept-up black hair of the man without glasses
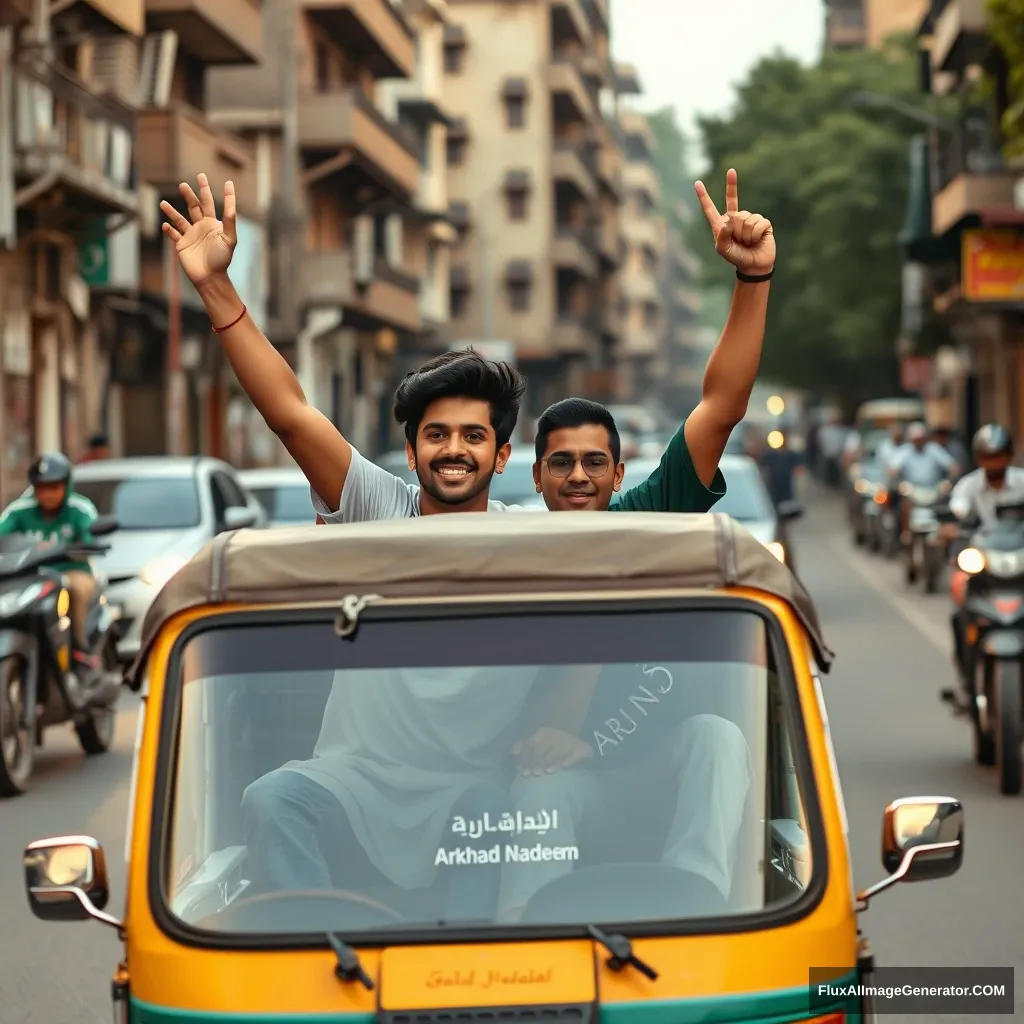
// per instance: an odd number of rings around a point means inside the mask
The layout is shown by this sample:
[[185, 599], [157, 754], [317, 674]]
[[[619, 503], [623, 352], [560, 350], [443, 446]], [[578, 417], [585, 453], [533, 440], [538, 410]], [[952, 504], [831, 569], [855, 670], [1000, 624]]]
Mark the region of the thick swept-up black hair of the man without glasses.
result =
[[427, 408], [440, 398], [475, 398], [490, 407], [490, 429], [498, 447], [508, 444], [519, 419], [526, 379], [507, 362], [485, 359], [472, 348], [444, 352], [406, 374], [394, 393], [394, 418], [406, 428], [406, 439], [416, 435]]

